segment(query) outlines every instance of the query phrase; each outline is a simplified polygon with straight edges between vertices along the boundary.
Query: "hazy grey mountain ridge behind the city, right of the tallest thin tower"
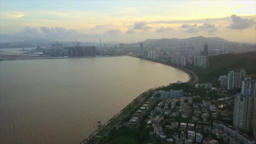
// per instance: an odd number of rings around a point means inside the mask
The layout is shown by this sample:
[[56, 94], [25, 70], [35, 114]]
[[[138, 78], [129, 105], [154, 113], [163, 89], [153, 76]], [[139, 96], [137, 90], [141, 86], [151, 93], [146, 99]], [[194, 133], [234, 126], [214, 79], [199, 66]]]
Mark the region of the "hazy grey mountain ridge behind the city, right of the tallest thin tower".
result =
[[[141, 43], [141, 42], [139, 42]], [[127, 47], [134, 47], [138, 46], [139, 43], [130, 43], [126, 44]], [[223, 44], [231, 44], [233, 42], [229, 42], [228, 40], [224, 40], [221, 37], [190, 37], [190, 38], [162, 38], [162, 39], [147, 39], [143, 41], [143, 45], [145, 47], [162, 47], [162, 48], [171, 48], [171, 47], [177, 47], [181, 44], [186, 45], [203, 45], [207, 43], [208, 45], [223, 45]]]

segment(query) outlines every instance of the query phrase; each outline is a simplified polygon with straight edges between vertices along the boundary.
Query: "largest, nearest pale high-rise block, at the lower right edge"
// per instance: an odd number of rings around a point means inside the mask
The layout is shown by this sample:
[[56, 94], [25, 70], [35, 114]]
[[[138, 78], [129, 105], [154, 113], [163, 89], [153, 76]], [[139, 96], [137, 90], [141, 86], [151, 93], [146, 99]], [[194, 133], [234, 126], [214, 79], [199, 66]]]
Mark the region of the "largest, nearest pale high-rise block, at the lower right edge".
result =
[[237, 95], [235, 98], [233, 127], [249, 133], [255, 128], [256, 97]]

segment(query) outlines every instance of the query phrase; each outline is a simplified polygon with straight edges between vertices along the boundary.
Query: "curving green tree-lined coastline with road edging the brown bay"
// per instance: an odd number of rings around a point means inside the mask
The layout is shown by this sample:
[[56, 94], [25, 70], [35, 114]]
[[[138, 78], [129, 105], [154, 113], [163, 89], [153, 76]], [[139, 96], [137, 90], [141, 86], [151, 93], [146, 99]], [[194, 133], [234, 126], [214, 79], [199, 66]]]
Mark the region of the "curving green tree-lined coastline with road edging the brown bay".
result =
[[[131, 57], [134, 57], [134, 58], [143, 59], [143, 58], [136, 57], [136, 56], [133, 56], [133, 55], [123, 55], [123, 56], [131, 56]], [[154, 61], [154, 60], [150, 60], [150, 59], [144, 59], [144, 60]], [[189, 76], [189, 80], [185, 83], [195, 84], [198, 81], [197, 75], [194, 72], [192, 72], [192, 71], [190, 71], [186, 68], [175, 67], [174, 65], [166, 64], [166, 63], [163, 63], [163, 62], [160, 62], [160, 61], [154, 61], [154, 62], [157, 62], [157, 63], [160, 63], [160, 64], [165, 64], [167, 66], [180, 69], [181, 71], [187, 73], [187, 75]], [[164, 87], [166, 87], [166, 86], [168, 86], [168, 85], [165, 85]], [[159, 86], [157, 88], [162, 88], [162, 87]], [[141, 102], [139, 102], [139, 104], [135, 104], [135, 101], [141, 101], [141, 99], [143, 100], [143, 99], [149, 98], [147, 94], [148, 93], [153, 93], [155, 91], [155, 89], [157, 89], [157, 88], [150, 88], [149, 90], [144, 91], [143, 93], [141, 93], [138, 97], [133, 99], [133, 101], [131, 101], [130, 104], [128, 104], [120, 112], [118, 112], [116, 115], [114, 115], [106, 124], [103, 125], [102, 128], [99, 128], [96, 131], [94, 131], [94, 133], [90, 134], [86, 139], [84, 139], [82, 142], [80, 142], [80, 144], [87, 144], [87, 143], [88, 144], [97, 144], [101, 140], [102, 137], [107, 135], [109, 133], [109, 131], [112, 130], [112, 128], [115, 128], [115, 127], [118, 128], [118, 126], [121, 123], [123, 118], [127, 117], [137, 107], [140, 107]], [[128, 113], [125, 113], [125, 111], [127, 109], [129, 109], [128, 107], [132, 107], [132, 110], [129, 110]], [[123, 115], [123, 117], [122, 117], [122, 115]], [[107, 129], [107, 132], [104, 130], [104, 128]]]

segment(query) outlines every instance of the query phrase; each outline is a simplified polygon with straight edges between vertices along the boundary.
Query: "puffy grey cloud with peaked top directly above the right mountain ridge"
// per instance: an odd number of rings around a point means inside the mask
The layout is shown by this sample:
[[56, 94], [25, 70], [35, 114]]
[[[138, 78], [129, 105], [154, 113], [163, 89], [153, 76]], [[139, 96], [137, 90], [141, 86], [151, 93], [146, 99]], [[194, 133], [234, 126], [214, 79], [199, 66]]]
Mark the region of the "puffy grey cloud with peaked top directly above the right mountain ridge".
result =
[[187, 29], [185, 31], [187, 33], [197, 33], [202, 31], [206, 31], [208, 33], [214, 33], [218, 30], [215, 27], [215, 24], [211, 24], [211, 22], [208, 21], [207, 19], [205, 20], [205, 23], [203, 23], [203, 25], [198, 26], [197, 24], [182, 24], [181, 28]]

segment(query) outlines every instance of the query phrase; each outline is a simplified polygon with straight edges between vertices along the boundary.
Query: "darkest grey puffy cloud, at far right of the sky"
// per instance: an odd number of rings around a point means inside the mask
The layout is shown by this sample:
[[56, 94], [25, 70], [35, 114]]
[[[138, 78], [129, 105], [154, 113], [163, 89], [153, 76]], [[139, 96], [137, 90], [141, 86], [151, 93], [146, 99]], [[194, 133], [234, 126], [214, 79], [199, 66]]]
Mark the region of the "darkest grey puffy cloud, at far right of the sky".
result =
[[243, 19], [242, 17], [233, 14], [231, 16], [231, 19], [233, 23], [228, 26], [230, 29], [246, 29], [255, 25], [255, 21], [253, 18]]

